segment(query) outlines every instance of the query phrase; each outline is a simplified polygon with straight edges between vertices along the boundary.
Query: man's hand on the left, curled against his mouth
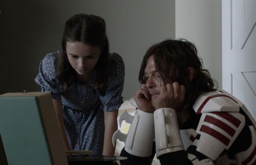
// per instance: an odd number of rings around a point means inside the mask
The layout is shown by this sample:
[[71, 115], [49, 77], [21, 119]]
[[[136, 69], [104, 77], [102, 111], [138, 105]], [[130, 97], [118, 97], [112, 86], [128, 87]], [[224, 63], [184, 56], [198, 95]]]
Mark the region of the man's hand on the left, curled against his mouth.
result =
[[141, 111], [154, 113], [155, 108], [151, 102], [151, 95], [145, 85], [143, 85], [133, 97]]

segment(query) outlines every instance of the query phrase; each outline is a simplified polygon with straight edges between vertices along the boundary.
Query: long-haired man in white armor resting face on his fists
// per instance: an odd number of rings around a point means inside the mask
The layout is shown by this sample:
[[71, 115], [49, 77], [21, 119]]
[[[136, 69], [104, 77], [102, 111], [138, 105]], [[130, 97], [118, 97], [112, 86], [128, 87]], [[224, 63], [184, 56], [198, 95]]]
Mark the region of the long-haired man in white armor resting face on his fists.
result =
[[161, 164], [255, 163], [255, 120], [234, 96], [217, 91], [201, 61], [185, 39], [147, 50], [121, 164], [151, 164], [155, 152]]

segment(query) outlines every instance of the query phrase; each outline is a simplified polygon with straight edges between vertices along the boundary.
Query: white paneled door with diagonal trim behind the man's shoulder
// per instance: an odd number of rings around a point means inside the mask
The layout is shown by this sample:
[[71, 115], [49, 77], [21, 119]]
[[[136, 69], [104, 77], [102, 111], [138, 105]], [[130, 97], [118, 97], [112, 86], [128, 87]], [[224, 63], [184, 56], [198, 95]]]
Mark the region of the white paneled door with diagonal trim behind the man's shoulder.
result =
[[256, 0], [222, 0], [222, 86], [256, 119]]

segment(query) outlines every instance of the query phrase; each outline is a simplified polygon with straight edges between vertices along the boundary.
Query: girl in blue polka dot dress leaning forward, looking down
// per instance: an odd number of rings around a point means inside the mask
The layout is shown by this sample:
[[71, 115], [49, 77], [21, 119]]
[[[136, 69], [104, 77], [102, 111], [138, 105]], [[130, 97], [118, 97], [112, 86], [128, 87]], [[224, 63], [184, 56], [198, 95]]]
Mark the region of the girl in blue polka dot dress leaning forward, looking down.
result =
[[123, 103], [124, 63], [109, 53], [101, 17], [77, 14], [68, 19], [61, 50], [45, 56], [35, 81], [52, 94], [66, 150], [114, 156], [111, 139]]

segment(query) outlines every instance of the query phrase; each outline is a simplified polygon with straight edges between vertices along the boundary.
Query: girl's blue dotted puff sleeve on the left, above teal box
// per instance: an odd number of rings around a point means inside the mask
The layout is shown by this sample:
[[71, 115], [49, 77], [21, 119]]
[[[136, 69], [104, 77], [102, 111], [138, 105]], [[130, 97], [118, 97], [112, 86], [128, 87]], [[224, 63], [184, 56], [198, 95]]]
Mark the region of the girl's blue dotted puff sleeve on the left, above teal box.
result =
[[49, 53], [40, 62], [39, 73], [35, 78], [38, 85], [41, 86], [42, 92], [51, 92], [53, 99], [60, 99], [61, 93], [63, 92], [62, 86], [56, 79], [56, 70], [54, 63], [59, 51]]

